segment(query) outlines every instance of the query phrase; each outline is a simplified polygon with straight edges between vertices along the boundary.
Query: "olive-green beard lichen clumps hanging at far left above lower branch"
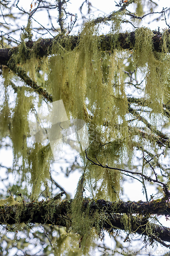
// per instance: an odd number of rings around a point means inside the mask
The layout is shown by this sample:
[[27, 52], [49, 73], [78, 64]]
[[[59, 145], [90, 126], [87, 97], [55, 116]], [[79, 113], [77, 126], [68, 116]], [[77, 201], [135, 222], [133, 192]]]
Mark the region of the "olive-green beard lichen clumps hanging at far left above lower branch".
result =
[[[49, 176], [51, 148], [42, 147], [41, 143], [32, 144], [31, 152], [27, 145], [29, 137], [28, 113], [32, 105], [32, 97], [25, 96], [24, 88], [17, 91], [16, 105], [11, 122], [10, 138], [13, 143], [13, 170], [21, 174], [21, 181], [32, 187], [32, 200], [39, 197], [41, 184], [46, 185]], [[22, 172], [22, 173], [21, 173]], [[28, 175], [30, 173], [30, 176]]]

